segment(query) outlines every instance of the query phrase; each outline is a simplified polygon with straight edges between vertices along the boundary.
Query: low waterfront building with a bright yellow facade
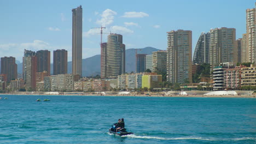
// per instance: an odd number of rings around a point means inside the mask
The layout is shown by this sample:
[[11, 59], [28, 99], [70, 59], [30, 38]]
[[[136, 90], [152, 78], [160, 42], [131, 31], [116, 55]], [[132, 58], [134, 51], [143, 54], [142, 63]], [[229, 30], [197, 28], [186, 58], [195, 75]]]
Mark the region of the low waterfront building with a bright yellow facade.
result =
[[143, 75], [142, 76], [142, 88], [159, 88], [160, 82], [162, 82], [162, 75]]

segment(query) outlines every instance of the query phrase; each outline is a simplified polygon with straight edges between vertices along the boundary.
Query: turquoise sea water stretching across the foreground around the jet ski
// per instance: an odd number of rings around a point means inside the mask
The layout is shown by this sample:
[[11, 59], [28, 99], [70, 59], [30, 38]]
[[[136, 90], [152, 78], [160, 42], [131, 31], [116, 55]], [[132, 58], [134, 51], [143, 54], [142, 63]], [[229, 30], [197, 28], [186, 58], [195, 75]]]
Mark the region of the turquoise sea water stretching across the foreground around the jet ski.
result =
[[256, 143], [254, 98], [1, 97], [0, 143]]

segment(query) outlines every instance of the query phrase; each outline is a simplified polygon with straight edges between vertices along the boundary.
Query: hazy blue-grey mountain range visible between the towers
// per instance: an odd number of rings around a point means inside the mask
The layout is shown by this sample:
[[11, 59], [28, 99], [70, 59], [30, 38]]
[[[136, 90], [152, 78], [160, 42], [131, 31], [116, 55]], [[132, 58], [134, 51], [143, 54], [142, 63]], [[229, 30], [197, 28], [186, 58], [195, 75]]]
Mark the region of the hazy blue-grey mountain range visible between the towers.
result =
[[[152, 52], [158, 51], [154, 47], [145, 47], [142, 49], [137, 49], [138, 54], [151, 55]], [[125, 71], [126, 73], [131, 73], [135, 71], [135, 54], [136, 49], [127, 49], [125, 51]], [[83, 76], [96, 76], [101, 75], [101, 55], [95, 55], [89, 58], [83, 59]], [[22, 74], [22, 63], [18, 64], [18, 73]], [[68, 74], [72, 73], [72, 62], [68, 62]], [[51, 63], [51, 74], [53, 74], [53, 63]]]

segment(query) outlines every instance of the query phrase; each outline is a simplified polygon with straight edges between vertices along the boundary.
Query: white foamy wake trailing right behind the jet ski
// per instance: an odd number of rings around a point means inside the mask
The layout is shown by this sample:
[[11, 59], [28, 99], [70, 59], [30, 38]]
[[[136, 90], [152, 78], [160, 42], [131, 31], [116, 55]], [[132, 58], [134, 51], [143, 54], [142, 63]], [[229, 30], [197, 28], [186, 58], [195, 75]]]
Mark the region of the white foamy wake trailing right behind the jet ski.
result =
[[253, 140], [255, 141], [255, 137], [240, 137], [240, 138], [229, 138], [229, 139], [216, 139], [216, 138], [207, 138], [207, 137], [197, 137], [197, 136], [190, 136], [190, 137], [158, 137], [158, 136], [139, 136], [139, 135], [125, 135], [121, 137], [129, 137], [135, 139], [156, 139], [156, 140], [202, 140], [202, 141], [243, 141], [243, 140]]

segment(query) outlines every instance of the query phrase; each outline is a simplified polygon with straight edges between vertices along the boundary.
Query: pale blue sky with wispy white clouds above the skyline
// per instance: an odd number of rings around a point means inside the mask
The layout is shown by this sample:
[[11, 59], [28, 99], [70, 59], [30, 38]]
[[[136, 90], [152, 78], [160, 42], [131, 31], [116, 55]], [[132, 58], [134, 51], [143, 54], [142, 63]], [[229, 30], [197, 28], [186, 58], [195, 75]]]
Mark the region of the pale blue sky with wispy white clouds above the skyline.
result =
[[[236, 28], [236, 38], [246, 33], [246, 9], [255, 0], [129, 0], [34, 1], [0, 0], [0, 57], [22, 62], [24, 49], [66, 49], [72, 60], [72, 9], [83, 8], [83, 58], [100, 54], [100, 29], [123, 35], [126, 49], [147, 46], [166, 50], [167, 33], [192, 31], [193, 53], [202, 32], [211, 28]], [[53, 58], [51, 58], [51, 63]]]

